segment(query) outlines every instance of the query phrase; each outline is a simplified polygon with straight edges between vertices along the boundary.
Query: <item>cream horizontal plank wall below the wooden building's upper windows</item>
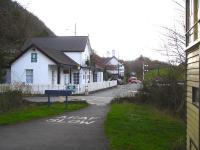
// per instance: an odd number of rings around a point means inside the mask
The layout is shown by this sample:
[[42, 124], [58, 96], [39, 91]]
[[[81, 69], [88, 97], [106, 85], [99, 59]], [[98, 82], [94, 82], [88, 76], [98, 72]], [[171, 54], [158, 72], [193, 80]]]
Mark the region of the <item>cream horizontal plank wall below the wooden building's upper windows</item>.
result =
[[199, 110], [192, 103], [192, 87], [199, 87], [199, 50], [187, 54], [187, 150], [191, 140], [199, 147]]

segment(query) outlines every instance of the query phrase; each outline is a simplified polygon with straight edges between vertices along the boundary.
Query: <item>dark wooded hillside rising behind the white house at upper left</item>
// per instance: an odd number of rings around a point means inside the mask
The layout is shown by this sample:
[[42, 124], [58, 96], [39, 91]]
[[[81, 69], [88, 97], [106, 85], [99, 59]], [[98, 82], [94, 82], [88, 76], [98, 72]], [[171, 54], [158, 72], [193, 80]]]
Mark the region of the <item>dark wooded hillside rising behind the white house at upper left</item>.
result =
[[0, 0], [0, 51], [11, 59], [29, 37], [55, 34], [17, 2]]

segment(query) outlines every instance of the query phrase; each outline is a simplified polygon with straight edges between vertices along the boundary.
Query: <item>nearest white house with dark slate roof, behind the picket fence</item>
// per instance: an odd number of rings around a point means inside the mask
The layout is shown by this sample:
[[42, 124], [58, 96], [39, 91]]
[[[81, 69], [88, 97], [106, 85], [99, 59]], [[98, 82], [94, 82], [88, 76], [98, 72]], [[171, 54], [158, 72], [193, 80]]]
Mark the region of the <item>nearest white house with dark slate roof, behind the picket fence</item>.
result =
[[11, 83], [66, 85], [102, 82], [103, 71], [90, 66], [91, 53], [87, 36], [31, 38], [10, 64]]

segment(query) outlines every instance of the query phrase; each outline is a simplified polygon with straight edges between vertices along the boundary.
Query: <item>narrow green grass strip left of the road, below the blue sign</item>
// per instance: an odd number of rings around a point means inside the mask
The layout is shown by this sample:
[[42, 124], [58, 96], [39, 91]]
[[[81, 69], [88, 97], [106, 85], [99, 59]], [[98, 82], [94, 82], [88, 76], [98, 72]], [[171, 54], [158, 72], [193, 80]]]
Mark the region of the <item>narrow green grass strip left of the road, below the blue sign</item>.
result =
[[54, 103], [50, 107], [47, 104], [31, 104], [5, 113], [0, 113], [0, 125], [15, 124], [28, 120], [54, 116], [65, 112], [75, 111], [87, 107], [86, 102], [69, 102], [67, 107], [63, 103]]

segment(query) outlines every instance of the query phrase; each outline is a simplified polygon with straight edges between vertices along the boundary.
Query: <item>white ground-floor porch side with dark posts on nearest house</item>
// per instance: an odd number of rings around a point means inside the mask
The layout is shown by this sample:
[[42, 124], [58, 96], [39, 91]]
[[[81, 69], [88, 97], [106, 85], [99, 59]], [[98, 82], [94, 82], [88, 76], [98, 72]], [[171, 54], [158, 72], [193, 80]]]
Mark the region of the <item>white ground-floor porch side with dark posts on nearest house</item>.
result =
[[103, 82], [101, 70], [80, 66], [48, 66], [48, 84], [50, 85], [85, 85], [92, 82]]

